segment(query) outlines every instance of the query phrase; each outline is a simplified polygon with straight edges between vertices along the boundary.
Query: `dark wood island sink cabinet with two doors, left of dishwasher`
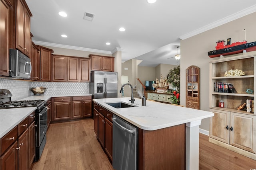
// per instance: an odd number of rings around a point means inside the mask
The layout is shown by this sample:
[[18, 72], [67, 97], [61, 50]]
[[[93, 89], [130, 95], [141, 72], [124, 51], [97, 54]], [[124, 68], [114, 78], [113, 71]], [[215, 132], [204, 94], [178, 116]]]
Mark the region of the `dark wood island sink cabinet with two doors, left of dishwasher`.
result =
[[[112, 134], [113, 134], [113, 114], [99, 106], [98, 111], [98, 141], [104, 148], [106, 154], [112, 160]], [[94, 121], [95, 122], [95, 121]], [[94, 124], [95, 128], [95, 124]], [[95, 131], [95, 129], [94, 129]]]

